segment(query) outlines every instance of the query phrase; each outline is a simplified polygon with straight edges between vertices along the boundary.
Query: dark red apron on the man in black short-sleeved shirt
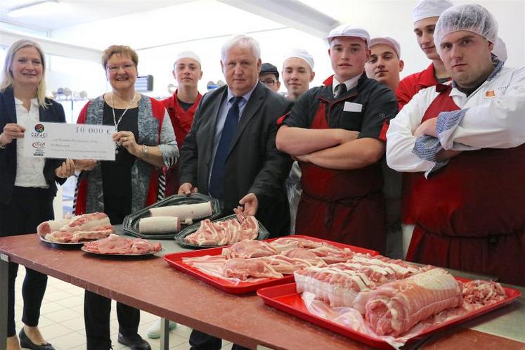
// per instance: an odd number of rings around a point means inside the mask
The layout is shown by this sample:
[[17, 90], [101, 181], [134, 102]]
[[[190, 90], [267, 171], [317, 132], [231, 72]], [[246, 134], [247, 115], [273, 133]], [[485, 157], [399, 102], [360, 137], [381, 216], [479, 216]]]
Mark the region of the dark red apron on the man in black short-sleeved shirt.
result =
[[[327, 101], [321, 100], [311, 129], [328, 129]], [[386, 250], [380, 164], [362, 169], [334, 170], [299, 162], [303, 193], [295, 231], [297, 234], [349, 245]]]

